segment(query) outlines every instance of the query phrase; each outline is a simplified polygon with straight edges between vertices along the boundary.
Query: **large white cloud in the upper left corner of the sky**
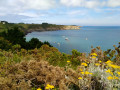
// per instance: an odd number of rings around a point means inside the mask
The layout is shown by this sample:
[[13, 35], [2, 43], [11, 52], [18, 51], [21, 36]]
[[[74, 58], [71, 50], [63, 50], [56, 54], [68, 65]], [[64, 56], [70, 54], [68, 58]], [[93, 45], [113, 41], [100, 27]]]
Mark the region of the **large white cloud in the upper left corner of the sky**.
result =
[[0, 0], [0, 15], [25, 10], [48, 10], [56, 7], [56, 0]]

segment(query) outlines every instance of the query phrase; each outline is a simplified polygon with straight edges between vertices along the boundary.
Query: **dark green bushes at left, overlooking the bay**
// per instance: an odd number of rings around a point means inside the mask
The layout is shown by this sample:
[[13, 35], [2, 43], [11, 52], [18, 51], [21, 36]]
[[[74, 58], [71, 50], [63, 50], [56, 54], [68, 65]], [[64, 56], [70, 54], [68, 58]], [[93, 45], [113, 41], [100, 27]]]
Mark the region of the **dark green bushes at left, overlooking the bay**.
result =
[[18, 27], [8, 29], [0, 33], [0, 48], [4, 50], [12, 49], [11, 45], [20, 45], [24, 49], [40, 48], [43, 44], [50, 45], [49, 42], [41, 42], [37, 38], [32, 38], [29, 42], [26, 42], [25, 34], [19, 30]]

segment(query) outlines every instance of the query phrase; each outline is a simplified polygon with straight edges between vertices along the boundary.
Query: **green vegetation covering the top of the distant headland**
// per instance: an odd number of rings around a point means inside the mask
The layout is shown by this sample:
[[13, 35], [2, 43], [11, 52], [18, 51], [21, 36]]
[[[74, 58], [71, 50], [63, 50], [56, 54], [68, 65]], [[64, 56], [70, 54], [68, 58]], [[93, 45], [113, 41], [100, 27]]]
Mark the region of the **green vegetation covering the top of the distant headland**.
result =
[[7, 31], [8, 29], [11, 29], [13, 27], [18, 27], [20, 30], [23, 30], [25, 34], [31, 32], [31, 30], [39, 30], [39, 31], [45, 31], [45, 30], [61, 30], [61, 28], [64, 27], [64, 25], [55, 25], [55, 24], [48, 24], [48, 23], [42, 23], [42, 24], [24, 24], [24, 23], [0, 23], [0, 32]]

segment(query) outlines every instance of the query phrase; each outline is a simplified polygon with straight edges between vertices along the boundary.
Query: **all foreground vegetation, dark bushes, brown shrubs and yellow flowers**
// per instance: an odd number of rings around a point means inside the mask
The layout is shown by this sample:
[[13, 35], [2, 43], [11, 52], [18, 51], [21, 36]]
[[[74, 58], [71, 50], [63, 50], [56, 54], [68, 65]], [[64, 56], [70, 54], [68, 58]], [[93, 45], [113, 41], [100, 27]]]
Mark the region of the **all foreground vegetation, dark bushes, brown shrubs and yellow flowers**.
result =
[[24, 36], [17, 27], [0, 33], [0, 90], [120, 89], [120, 43], [115, 50], [69, 55]]

